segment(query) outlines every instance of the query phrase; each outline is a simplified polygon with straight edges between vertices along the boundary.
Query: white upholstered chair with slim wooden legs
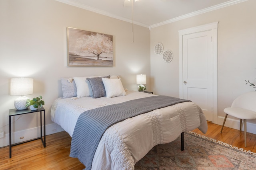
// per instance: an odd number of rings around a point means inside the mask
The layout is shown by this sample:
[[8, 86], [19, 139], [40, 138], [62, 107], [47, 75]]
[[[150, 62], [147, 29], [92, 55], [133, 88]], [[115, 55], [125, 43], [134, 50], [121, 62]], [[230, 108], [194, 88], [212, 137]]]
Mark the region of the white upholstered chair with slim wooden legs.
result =
[[246, 147], [246, 120], [256, 119], [256, 92], [248, 92], [238, 96], [231, 107], [224, 109], [224, 112], [226, 113], [226, 116], [220, 133], [222, 133], [228, 115], [240, 119], [240, 131], [242, 127], [242, 119], [244, 119], [244, 147]]

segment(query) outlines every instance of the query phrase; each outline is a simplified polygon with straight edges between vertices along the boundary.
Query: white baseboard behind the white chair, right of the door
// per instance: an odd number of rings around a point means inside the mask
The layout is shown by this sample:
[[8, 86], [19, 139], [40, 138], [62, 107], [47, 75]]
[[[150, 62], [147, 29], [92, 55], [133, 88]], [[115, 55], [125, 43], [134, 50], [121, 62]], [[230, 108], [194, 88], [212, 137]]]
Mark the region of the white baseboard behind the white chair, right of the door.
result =
[[[223, 121], [224, 121], [224, 117], [222, 116], [218, 116], [218, 122], [217, 124], [218, 125], [222, 125], [223, 124]], [[253, 133], [253, 134], [256, 134], [256, 128], [255, 128], [256, 124], [254, 123], [250, 123], [247, 121], [247, 124], [246, 124], [246, 131], [249, 132], [249, 133]], [[224, 125], [224, 128], [225, 127], [230, 127], [230, 128], [233, 128], [233, 129], [240, 129], [240, 120], [237, 120], [237, 119], [231, 119], [231, 118], [228, 118], [226, 119], [226, 122], [225, 122], [225, 125]], [[244, 131], [244, 121], [242, 121], [242, 131]]]

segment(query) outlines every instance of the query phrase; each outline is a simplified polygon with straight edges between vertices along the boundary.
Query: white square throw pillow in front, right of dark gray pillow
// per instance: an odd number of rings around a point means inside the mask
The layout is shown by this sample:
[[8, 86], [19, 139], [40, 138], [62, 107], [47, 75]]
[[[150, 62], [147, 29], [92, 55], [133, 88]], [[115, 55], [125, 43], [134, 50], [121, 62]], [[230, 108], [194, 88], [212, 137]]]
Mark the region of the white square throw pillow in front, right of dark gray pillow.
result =
[[126, 95], [120, 78], [102, 78], [102, 82], [105, 86], [107, 98]]

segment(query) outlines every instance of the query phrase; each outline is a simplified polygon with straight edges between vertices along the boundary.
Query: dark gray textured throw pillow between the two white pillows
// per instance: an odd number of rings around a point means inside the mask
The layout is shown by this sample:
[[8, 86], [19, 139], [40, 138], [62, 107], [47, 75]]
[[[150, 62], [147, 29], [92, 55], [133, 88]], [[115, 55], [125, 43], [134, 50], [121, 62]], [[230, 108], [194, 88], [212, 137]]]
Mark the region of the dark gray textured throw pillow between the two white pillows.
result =
[[110, 76], [86, 78], [86, 80], [90, 82], [90, 85], [92, 87], [93, 98], [101, 98], [106, 96], [106, 91], [102, 82], [102, 78], [110, 78]]

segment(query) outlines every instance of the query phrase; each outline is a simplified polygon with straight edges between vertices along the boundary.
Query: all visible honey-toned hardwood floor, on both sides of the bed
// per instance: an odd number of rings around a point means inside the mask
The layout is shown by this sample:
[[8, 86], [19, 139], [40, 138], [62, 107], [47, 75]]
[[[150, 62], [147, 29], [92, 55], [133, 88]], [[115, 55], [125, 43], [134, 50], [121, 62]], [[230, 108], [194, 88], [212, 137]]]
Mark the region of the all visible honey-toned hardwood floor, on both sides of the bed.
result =
[[[194, 132], [230, 145], [244, 148], [244, 132], [208, 123], [208, 131], [203, 134], [200, 130]], [[9, 147], [0, 148], [1, 170], [82, 170], [84, 165], [77, 158], [70, 158], [71, 137], [66, 132], [46, 136], [46, 148], [41, 140], [36, 140], [12, 147], [12, 158], [9, 158]], [[186, 149], [186, 146], [185, 146]], [[246, 150], [256, 152], [256, 135], [247, 133]]]

